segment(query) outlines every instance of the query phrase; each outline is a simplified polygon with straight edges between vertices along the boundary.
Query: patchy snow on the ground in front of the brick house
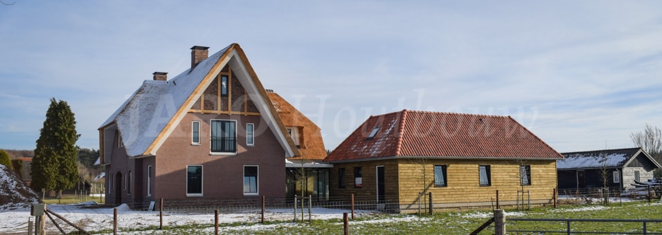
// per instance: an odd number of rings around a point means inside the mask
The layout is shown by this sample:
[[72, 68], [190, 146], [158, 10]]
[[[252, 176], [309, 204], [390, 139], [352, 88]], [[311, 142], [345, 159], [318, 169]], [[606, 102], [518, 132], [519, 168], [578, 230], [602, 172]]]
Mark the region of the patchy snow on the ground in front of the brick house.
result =
[[[113, 208], [89, 208], [90, 203], [81, 203], [78, 205], [47, 205], [48, 209], [60, 214], [71, 223], [83, 227], [90, 231], [99, 231], [102, 229], [113, 228]], [[125, 204], [120, 205], [118, 208], [118, 227], [119, 231], [122, 228], [140, 228], [149, 226], [159, 226], [159, 212], [145, 212], [134, 211], [129, 209]], [[307, 209], [304, 218], [308, 219]], [[343, 212], [348, 212], [346, 209], [328, 209], [321, 207], [312, 208], [312, 219], [331, 219], [343, 218]], [[301, 211], [297, 212], [297, 217], [301, 220]], [[370, 211], [355, 211], [356, 216], [365, 216], [370, 214]], [[265, 220], [267, 221], [288, 221], [294, 218], [292, 209], [267, 209], [265, 212]], [[30, 209], [15, 209], [11, 211], [0, 211], [0, 234], [3, 233], [24, 233], [28, 231], [28, 220], [33, 220], [34, 217], [30, 216]], [[405, 217], [406, 219], [406, 217]], [[409, 218], [411, 219], [411, 218]], [[47, 219], [48, 220], [48, 219]], [[219, 223], [259, 223], [261, 220], [260, 209], [252, 209], [245, 212], [219, 214]], [[392, 221], [392, 220], [391, 220]], [[213, 225], [214, 214], [193, 214], [193, 213], [176, 213], [164, 212], [163, 225], [192, 225], [192, 224], [209, 224]], [[68, 227], [69, 231], [73, 228], [69, 225], [61, 223], [58, 224], [63, 227]], [[296, 225], [296, 223], [279, 223], [276, 225], [244, 225], [238, 227], [222, 227], [224, 231], [231, 232], [236, 229], [269, 229], [269, 227]], [[46, 225], [48, 231], [56, 232], [57, 228], [50, 223]], [[211, 229], [213, 232], [213, 228]], [[128, 233], [131, 234], [131, 233]], [[136, 233], [140, 234], [140, 233]]]

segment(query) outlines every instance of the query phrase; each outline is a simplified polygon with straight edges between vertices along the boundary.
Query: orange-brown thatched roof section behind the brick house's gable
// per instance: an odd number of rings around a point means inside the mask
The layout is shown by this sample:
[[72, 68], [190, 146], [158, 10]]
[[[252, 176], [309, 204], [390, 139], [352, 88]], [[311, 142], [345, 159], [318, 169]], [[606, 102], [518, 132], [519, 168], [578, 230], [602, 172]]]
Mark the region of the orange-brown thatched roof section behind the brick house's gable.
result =
[[283, 99], [278, 93], [273, 91], [267, 92], [271, 103], [283, 120], [285, 126], [298, 126], [301, 127], [303, 133], [303, 143], [300, 144], [301, 157], [291, 158], [290, 160], [323, 160], [326, 158], [326, 149], [324, 148], [324, 141], [322, 140], [322, 132], [312, 120], [308, 119], [303, 113], [294, 108], [292, 104]]

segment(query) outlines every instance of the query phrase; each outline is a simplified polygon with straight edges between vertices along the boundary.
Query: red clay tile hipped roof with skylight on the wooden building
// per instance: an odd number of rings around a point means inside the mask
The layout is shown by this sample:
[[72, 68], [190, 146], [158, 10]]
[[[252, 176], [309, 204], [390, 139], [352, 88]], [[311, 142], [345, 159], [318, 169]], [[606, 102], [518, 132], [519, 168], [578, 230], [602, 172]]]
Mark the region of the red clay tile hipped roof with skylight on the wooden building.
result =
[[397, 156], [563, 159], [510, 116], [403, 110], [370, 116], [325, 161]]

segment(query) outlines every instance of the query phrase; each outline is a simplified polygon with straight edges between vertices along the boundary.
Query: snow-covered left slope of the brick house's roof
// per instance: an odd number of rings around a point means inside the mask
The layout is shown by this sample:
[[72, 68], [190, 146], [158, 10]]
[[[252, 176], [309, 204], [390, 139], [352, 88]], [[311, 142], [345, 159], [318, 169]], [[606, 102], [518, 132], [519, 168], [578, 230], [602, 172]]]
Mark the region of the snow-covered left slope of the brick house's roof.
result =
[[115, 122], [127, 155], [141, 156], [230, 47], [218, 51], [193, 70], [189, 68], [170, 81], [145, 80], [100, 128]]

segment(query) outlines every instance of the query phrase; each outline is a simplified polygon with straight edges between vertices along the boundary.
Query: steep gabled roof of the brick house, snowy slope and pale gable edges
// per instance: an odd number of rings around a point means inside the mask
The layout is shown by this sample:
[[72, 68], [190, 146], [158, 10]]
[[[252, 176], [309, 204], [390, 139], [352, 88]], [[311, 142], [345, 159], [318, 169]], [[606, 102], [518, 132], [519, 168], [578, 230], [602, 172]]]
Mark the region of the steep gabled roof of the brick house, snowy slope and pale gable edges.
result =
[[[285, 126], [239, 44], [231, 44], [169, 81], [145, 80], [99, 128], [117, 126], [127, 155], [154, 156], [215, 75], [230, 64], [288, 156], [298, 156]], [[245, 83], [245, 84], [243, 84]], [[101, 141], [101, 140], [100, 140]], [[104, 144], [103, 142], [101, 144]], [[104, 153], [100, 153], [103, 155]], [[101, 159], [103, 159], [101, 157]]]

